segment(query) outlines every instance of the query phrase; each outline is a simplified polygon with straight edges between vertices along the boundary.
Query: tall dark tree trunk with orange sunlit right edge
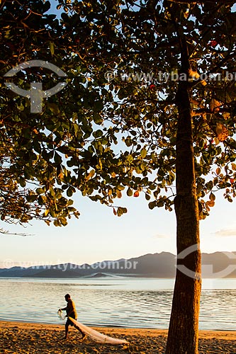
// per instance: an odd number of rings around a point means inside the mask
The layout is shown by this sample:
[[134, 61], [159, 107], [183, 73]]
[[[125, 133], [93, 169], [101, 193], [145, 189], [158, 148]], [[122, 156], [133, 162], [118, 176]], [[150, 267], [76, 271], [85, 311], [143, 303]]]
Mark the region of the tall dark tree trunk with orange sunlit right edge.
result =
[[[201, 252], [193, 160], [192, 113], [187, 81], [179, 82], [176, 100], [179, 121], [176, 137], [174, 207], [178, 256], [166, 354], [197, 354]], [[180, 254], [183, 251], [186, 254]]]

